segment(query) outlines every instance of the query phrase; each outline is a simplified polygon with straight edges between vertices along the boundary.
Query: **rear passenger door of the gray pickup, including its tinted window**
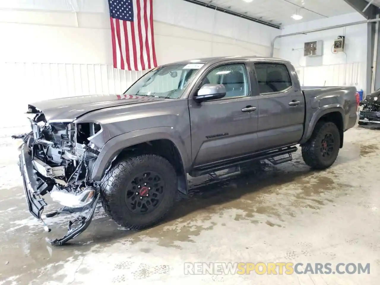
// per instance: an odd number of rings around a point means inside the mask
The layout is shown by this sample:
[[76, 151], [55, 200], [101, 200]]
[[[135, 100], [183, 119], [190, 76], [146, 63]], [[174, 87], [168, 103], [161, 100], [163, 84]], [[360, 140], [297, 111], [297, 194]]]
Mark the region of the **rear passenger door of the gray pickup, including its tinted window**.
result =
[[[259, 150], [295, 144], [304, 131], [305, 102], [299, 83], [283, 62], [255, 62]], [[295, 73], [295, 71], [294, 71]]]

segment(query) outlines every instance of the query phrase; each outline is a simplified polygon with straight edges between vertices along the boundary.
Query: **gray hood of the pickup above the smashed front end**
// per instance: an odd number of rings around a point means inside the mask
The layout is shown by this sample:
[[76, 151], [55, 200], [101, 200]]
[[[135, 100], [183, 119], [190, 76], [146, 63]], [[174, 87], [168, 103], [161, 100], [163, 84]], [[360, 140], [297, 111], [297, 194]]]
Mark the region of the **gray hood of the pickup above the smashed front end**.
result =
[[85, 95], [31, 103], [29, 104], [29, 112], [34, 108], [42, 111], [47, 122], [72, 122], [88, 112], [103, 108], [161, 100], [165, 99], [127, 94]]

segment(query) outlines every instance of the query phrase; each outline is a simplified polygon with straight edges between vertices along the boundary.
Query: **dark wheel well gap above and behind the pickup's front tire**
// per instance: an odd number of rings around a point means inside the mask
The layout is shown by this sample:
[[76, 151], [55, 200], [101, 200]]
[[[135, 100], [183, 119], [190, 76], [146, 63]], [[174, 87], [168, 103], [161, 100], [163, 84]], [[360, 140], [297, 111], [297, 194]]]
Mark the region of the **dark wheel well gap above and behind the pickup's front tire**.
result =
[[184, 171], [182, 158], [176, 145], [169, 139], [156, 139], [153, 141], [142, 142], [123, 149], [120, 155], [132, 153], [157, 154], [166, 158], [177, 173], [178, 190], [187, 194], [187, 176]]

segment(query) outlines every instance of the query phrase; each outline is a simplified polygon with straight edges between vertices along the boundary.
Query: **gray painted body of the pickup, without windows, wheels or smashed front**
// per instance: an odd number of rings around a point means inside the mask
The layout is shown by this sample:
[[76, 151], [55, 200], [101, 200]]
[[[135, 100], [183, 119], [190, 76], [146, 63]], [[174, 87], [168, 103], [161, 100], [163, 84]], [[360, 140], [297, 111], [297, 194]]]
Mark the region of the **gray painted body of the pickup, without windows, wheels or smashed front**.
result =
[[[190, 63], [184, 61], [180, 63]], [[261, 57], [200, 59], [204, 63], [179, 99], [137, 97], [71, 97], [36, 103], [50, 120], [100, 123], [91, 141], [101, 148], [91, 177], [98, 181], [112, 159], [124, 148], [156, 139], [177, 147], [184, 173], [229, 159], [306, 142], [318, 119], [339, 112], [344, 130], [355, 125], [355, 87], [306, 87], [301, 90], [296, 71], [287, 60]], [[261, 94], [255, 63], [285, 64], [292, 86], [284, 92]], [[244, 63], [249, 96], [196, 103], [193, 96], [205, 74], [226, 63]], [[128, 91], [127, 91], [128, 93]], [[121, 98], [123, 98], [122, 95]], [[113, 98], [113, 99], [112, 99]], [[289, 105], [299, 101], [298, 105]], [[242, 112], [246, 106], [255, 111]]]

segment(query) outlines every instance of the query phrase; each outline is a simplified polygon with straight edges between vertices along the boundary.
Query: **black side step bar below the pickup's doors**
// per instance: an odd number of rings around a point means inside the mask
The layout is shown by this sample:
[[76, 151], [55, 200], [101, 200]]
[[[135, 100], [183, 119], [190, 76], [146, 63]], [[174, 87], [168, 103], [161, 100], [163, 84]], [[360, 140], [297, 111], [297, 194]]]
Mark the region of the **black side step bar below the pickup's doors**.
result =
[[[206, 166], [204, 168], [194, 169], [189, 174], [192, 177], [198, 177], [198, 176], [202, 176], [202, 175], [206, 175], [206, 174], [210, 174], [210, 173], [215, 173], [217, 171], [225, 170], [228, 168], [238, 167], [239, 165], [244, 164], [244, 163], [249, 163], [249, 162], [253, 162], [253, 161], [260, 161], [260, 160], [265, 160], [265, 159], [268, 159], [273, 165], [278, 165], [280, 163], [291, 161], [292, 160], [291, 153], [296, 152], [297, 150], [298, 150], [298, 148], [296, 146], [287, 147], [285, 149], [274, 150], [271, 152], [258, 154], [258, 155], [252, 156], [252, 157], [243, 158], [241, 160], [223, 163], [220, 165], [208, 166], [208, 167]], [[275, 159], [275, 158], [280, 157], [280, 156], [285, 156], [285, 157]], [[236, 171], [236, 172], [239, 172], [239, 171]]]

